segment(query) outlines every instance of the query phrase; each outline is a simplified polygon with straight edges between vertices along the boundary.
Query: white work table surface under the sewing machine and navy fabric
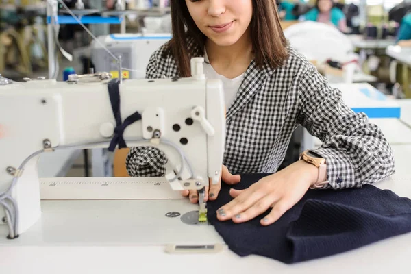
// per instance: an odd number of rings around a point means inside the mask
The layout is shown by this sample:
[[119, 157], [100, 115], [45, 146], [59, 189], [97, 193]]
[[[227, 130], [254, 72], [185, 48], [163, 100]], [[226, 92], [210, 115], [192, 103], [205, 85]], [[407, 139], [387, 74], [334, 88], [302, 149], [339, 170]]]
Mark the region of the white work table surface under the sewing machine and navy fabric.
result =
[[[395, 175], [375, 186], [411, 198], [411, 175]], [[347, 274], [406, 273], [401, 271], [410, 267], [411, 233], [292, 265], [261, 256], [240, 258], [225, 245], [212, 254], [165, 253], [166, 243], [221, 241], [212, 226], [192, 227], [164, 217], [195, 208], [183, 199], [42, 201], [42, 219], [34, 227], [16, 240], [0, 238], [1, 273]]]

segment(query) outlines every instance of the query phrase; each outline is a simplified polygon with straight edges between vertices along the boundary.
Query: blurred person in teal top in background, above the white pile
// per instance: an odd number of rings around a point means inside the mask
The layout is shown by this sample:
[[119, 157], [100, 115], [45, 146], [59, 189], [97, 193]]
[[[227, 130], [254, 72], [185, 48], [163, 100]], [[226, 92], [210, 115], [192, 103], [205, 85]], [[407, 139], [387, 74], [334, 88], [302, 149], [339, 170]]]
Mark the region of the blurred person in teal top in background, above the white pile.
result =
[[347, 21], [344, 13], [334, 7], [333, 0], [317, 0], [315, 8], [303, 15], [304, 20], [334, 25], [341, 32], [347, 32]]

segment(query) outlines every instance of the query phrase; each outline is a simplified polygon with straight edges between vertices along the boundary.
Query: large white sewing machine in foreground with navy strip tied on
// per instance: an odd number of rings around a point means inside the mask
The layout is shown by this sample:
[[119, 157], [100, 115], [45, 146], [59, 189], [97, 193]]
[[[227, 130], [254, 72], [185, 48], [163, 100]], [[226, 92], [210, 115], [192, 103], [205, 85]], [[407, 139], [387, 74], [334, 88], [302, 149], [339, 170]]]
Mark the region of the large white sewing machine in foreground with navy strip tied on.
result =
[[[199, 190], [198, 219], [204, 221], [205, 186], [221, 176], [225, 107], [221, 82], [205, 79], [202, 69], [203, 58], [193, 58], [192, 77], [179, 79], [123, 81], [110, 73], [70, 75], [67, 82], [0, 78], [0, 220], [9, 228], [1, 236], [16, 238], [40, 219], [41, 153], [114, 149], [122, 140], [164, 151], [164, 179], [172, 190]], [[130, 119], [135, 122], [126, 126]]]

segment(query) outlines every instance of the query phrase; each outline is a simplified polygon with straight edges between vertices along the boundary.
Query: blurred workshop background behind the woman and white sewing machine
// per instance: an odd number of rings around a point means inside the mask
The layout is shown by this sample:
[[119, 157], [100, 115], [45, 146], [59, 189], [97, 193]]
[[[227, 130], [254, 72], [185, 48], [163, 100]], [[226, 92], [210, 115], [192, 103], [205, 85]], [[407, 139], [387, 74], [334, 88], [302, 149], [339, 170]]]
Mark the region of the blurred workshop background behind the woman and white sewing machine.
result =
[[[332, 1], [329, 10], [318, 8]], [[145, 77], [155, 49], [171, 38], [168, 0], [65, 0], [57, 14], [41, 0], [0, 0], [0, 73], [16, 82], [107, 71], [122, 55], [125, 79]], [[393, 145], [396, 157], [411, 140], [411, 0], [277, 0], [286, 38], [364, 111]], [[84, 25], [89, 32], [84, 29]], [[94, 39], [92, 36], [95, 36]], [[2, 78], [0, 78], [1, 81]], [[401, 112], [399, 111], [401, 109]], [[284, 164], [318, 146], [297, 129]], [[119, 155], [119, 159], [124, 159]], [[402, 166], [401, 166], [402, 165]], [[397, 161], [397, 171], [406, 170]], [[40, 158], [40, 177], [127, 176], [106, 149], [56, 151]]]

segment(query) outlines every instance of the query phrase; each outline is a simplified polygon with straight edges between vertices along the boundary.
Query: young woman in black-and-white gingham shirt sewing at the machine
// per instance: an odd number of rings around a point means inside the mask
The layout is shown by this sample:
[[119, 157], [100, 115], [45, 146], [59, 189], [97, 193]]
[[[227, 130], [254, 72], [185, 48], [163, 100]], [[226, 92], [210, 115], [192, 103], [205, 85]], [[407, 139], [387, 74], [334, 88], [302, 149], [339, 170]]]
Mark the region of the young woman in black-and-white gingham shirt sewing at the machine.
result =
[[[247, 190], [231, 190], [235, 198], [218, 211], [221, 221], [245, 222], [272, 207], [261, 220], [269, 225], [310, 187], [360, 187], [393, 174], [393, 153], [380, 129], [288, 47], [275, 0], [174, 0], [171, 16], [173, 38], [151, 55], [147, 78], [189, 77], [190, 58], [204, 56], [206, 77], [221, 79], [225, 89], [222, 180], [236, 184], [241, 173], [273, 173]], [[297, 125], [323, 145], [276, 172]], [[158, 149], [134, 147], [126, 162], [131, 176], [164, 176]], [[219, 190], [212, 185], [206, 200]], [[198, 202], [197, 192], [183, 194]]]

